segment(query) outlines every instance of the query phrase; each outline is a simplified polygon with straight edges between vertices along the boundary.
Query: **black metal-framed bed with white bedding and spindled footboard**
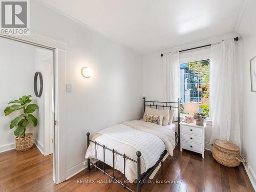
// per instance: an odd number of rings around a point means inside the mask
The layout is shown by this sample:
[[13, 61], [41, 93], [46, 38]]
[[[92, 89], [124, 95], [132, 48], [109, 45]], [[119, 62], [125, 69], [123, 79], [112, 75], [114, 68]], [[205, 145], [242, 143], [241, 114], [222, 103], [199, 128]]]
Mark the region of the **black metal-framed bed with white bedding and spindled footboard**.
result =
[[[88, 170], [90, 171], [90, 165], [93, 165], [130, 191], [133, 190], [126, 183], [137, 183], [137, 191], [140, 191], [143, 181], [157, 172], [161, 162], [168, 155], [173, 155], [179, 141], [179, 100], [161, 102], [146, 101], [143, 98], [143, 105], [143, 111], [147, 106], [169, 110], [176, 108], [178, 120], [164, 126], [145, 122], [145, 119], [126, 121], [97, 132], [91, 139], [90, 133], [87, 133]], [[178, 132], [175, 122], [178, 123]], [[95, 163], [90, 161], [92, 158], [95, 159]], [[97, 165], [98, 160], [103, 162], [103, 168]], [[113, 168], [113, 175], [105, 172], [105, 164]], [[115, 178], [115, 169], [123, 174], [123, 182]]]

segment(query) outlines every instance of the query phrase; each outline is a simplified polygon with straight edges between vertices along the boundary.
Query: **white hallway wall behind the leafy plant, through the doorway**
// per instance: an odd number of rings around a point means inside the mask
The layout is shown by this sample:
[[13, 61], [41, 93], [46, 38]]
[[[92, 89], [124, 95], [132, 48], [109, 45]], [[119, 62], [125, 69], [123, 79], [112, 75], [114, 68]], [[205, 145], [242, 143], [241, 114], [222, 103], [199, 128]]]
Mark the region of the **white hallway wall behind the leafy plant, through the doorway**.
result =
[[[32, 95], [35, 101], [34, 78], [34, 47], [17, 41], [0, 38], [0, 82], [2, 83], [0, 95], [0, 152], [15, 147], [14, 129], [10, 130], [10, 121], [21, 114], [18, 111], [5, 116], [4, 109], [9, 101], [18, 99], [23, 95]], [[29, 125], [26, 133], [33, 133]]]

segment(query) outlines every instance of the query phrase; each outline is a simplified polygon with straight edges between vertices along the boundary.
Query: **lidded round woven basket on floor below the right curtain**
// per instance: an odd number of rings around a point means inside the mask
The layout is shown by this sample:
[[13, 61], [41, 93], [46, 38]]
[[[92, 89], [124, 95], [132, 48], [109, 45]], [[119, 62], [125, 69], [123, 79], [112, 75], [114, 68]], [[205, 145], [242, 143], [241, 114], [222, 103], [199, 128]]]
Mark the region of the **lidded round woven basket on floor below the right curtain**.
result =
[[222, 165], [236, 167], [243, 162], [240, 156], [239, 147], [225, 140], [215, 140], [212, 157]]

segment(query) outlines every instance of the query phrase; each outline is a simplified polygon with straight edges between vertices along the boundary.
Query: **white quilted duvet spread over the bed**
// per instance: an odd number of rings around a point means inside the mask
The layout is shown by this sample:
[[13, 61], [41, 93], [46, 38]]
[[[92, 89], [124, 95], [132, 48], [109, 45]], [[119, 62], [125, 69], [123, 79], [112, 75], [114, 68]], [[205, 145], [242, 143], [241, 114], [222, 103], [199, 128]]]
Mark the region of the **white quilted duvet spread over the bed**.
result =
[[[168, 127], [144, 121], [127, 121], [97, 132], [92, 139], [118, 153], [137, 160], [136, 152], [141, 152], [141, 174], [156, 164], [163, 151], [173, 155], [175, 132]], [[97, 160], [103, 161], [103, 148], [96, 146]], [[123, 157], [115, 154], [115, 169], [123, 173]], [[90, 143], [86, 158], [95, 158], [95, 144]], [[113, 167], [113, 154], [105, 150], [105, 163]], [[127, 180], [137, 179], [137, 163], [125, 160]]]

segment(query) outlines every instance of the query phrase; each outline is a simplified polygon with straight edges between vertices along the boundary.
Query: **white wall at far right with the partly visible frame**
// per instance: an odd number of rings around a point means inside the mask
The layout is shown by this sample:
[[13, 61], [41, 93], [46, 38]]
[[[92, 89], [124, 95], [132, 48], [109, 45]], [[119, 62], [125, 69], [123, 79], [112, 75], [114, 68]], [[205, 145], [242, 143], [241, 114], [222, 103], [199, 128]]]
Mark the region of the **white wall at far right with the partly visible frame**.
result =
[[256, 56], [256, 1], [248, 1], [242, 22], [239, 27], [239, 33], [243, 42], [243, 130], [242, 130], [242, 152], [247, 162], [245, 167], [256, 190], [256, 92], [251, 92], [250, 80], [250, 59]]

